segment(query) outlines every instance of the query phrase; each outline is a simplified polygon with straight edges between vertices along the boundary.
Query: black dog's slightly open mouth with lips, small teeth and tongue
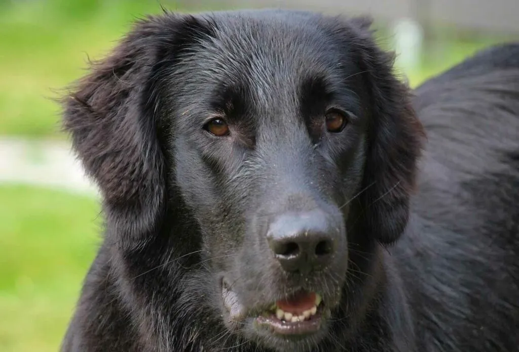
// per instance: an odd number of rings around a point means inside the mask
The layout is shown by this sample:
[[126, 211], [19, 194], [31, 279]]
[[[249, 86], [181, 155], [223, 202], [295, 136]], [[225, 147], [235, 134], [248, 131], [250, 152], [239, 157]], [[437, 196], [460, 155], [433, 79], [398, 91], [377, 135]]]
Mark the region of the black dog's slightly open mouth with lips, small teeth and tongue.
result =
[[223, 283], [224, 305], [232, 320], [246, 316], [254, 325], [280, 335], [305, 335], [318, 332], [325, 316], [325, 305], [317, 292], [299, 291], [295, 295], [272, 303], [267, 309], [245, 312], [235, 292]]

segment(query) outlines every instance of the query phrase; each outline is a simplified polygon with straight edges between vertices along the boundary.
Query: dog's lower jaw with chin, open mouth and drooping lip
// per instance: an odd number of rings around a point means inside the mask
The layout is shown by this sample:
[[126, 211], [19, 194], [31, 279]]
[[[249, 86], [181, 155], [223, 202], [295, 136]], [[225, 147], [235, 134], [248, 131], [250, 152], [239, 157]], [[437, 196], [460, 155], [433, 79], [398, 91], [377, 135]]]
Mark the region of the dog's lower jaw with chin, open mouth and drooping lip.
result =
[[291, 297], [246, 307], [225, 281], [222, 299], [223, 317], [230, 331], [278, 351], [307, 351], [318, 345], [329, 333], [331, 311], [338, 301], [301, 290]]

